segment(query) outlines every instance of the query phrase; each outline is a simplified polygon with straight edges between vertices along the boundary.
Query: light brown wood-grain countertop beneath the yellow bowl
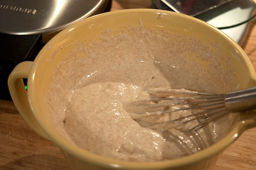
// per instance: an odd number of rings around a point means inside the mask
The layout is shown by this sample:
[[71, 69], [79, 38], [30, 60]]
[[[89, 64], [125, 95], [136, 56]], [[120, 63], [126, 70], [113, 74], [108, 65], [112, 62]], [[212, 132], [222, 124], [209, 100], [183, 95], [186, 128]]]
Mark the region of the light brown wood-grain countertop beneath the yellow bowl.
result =
[[[115, 0], [112, 10], [150, 7], [150, 0]], [[256, 68], [255, 26], [243, 49]], [[0, 169], [69, 169], [59, 148], [32, 131], [16, 111], [13, 102], [1, 99]], [[256, 128], [244, 132], [227, 148], [214, 168], [214, 170], [235, 169], [256, 169]]]

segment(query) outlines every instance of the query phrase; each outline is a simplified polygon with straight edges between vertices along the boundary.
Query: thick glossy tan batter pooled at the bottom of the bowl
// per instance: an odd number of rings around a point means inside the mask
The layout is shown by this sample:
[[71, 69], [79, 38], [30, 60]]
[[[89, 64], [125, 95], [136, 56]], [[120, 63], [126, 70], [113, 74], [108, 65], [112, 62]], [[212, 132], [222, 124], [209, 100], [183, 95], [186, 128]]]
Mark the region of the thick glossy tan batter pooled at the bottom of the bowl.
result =
[[160, 132], [142, 127], [131, 119], [123, 103], [146, 97], [143, 93], [142, 88], [122, 82], [79, 88], [67, 107], [65, 130], [77, 145], [90, 152], [130, 161], [174, 159], [202, 150], [216, 140], [211, 139], [211, 134], [210, 139], [201, 139], [193, 132]]

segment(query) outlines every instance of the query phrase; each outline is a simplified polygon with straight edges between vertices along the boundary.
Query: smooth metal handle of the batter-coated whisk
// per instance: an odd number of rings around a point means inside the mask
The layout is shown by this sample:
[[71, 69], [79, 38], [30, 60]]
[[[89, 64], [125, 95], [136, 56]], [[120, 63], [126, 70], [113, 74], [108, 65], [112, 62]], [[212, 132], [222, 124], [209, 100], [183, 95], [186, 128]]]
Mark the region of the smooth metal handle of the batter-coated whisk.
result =
[[232, 112], [256, 109], [256, 88], [249, 88], [227, 93], [226, 109]]

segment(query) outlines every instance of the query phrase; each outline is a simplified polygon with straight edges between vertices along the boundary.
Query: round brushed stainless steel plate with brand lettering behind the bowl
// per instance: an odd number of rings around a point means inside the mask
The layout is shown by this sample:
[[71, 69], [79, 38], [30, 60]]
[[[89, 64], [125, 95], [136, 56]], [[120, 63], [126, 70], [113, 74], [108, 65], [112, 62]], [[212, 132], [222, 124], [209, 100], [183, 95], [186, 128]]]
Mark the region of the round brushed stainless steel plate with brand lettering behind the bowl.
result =
[[0, 32], [30, 35], [56, 32], [104, 13], [108, 0], [0, 0]]

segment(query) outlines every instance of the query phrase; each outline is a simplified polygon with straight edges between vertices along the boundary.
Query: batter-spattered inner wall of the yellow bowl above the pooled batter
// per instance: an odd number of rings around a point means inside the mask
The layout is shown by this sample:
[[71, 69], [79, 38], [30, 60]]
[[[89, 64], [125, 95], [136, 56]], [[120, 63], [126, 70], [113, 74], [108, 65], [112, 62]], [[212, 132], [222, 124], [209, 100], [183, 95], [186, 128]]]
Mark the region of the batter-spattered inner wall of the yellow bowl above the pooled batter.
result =
[[[38, 66], [38, 74], [44, 73], [36, 78], [37, 87], [44, 88], [38, 97], [44, 101], [41, 109], [47, 110], [46, 115], [61, 134], [68, 138], [63, 121], [72, 90], [88, 83], [132, 82], [145, 88], [170, 85], [209, 93], [226, 93], [249, 84], [250, 71], [243, 54], [219, 32], [176, 15], [150, 15], [152, 18], [144, 14], [119, 15], [115, 23], [108, 16], [97, 21], [89, 19], [57, 35], [44, 47], [35, 61], [48, 65], [47, 70]], [[124, 20], [133, 26], [124, 27]], [[145, 26], [154, 27], [155, 33], [144, 32]], [[134, 43], [125, 45], [126, 38], [120, 40], [118, 30], [133, 37], [129, 41]], [[169, 35], [159, 37], [161, 30], [168, 30]], [[138, 49], [141, 41], [144, 46]], [[151, 72], [148, 65], [158, 71]]]

